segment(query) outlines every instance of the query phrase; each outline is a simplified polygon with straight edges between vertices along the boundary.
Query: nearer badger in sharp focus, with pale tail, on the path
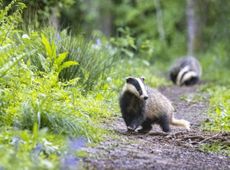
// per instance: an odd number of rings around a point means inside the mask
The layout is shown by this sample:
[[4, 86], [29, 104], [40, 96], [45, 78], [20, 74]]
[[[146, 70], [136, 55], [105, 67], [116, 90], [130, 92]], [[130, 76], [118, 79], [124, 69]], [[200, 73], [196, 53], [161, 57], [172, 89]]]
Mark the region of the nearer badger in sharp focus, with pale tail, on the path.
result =
[[159, 91], [144, 84], [144, 78], [129, 77], [119, 99], [122, 117], [128, 130], [146, 133], [152, 129], [152, 124], [160, 125], [164, 132], [169, 132], [169, 124], [190, 129], [186, 120], [174, 118], [174, 108], [171, 102]]

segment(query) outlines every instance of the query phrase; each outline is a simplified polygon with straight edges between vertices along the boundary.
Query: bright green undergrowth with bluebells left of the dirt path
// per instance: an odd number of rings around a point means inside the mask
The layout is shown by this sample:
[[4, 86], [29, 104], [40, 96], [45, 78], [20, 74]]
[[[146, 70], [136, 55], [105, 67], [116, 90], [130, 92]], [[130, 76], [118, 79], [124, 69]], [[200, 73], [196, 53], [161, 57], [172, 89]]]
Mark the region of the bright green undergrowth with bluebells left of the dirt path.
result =
[[[100, 123], [113, 113], [107, 96], [114, 94], [98, 82], [112, 61], [100, 68], [106, 50], [83, 37], [60, 45], [51, 36], [57, 32], [26, 34], [18, 27], [24, 7], [15, 0], [0, 10], [0, 169], [68, 169], [69, 159], [76, 167], [74, 148], [64, 147], [68, 139], [75, 147], [78, 139], [96, 143], [107, 133]], [[82, 72], [66, 70], [72, 67]]]

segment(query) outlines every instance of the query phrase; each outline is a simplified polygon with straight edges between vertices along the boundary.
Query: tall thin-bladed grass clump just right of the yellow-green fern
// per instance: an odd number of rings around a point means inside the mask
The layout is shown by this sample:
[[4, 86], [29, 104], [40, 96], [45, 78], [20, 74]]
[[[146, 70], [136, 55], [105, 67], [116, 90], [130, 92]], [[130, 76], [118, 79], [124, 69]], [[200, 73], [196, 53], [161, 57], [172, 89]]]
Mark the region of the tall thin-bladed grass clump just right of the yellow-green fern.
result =
[[76, 61], [79, 65], [64, 69], [60, 74], [61, 80], [79, 78], [79, 84], [84, 90], [92, 90], [100, 79], [106, 77], [116, 61], [114, 49], [104, 43], [102, 38], [85, 40], [83, 36], [72, 37], [62, 31], [58, 35], [58, 51], [68, 51], [67, 61]]

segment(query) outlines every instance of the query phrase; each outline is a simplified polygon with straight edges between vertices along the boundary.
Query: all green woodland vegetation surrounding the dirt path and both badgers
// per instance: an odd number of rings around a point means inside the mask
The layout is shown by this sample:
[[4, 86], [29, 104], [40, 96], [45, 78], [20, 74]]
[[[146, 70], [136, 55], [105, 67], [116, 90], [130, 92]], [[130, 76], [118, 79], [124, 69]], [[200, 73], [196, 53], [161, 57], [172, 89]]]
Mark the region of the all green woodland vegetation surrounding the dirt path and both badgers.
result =
[[201, 61], [210, 95], [205, 129], [229, 132], [229, 8], [227, 0], [1, 0], [0, 169], [79, 165], [79, 148], [102, 140], [100, 123], [120, 115], [124, 78], [170, 85], [170, 63], [187, 54]]

